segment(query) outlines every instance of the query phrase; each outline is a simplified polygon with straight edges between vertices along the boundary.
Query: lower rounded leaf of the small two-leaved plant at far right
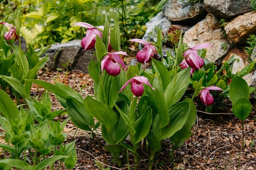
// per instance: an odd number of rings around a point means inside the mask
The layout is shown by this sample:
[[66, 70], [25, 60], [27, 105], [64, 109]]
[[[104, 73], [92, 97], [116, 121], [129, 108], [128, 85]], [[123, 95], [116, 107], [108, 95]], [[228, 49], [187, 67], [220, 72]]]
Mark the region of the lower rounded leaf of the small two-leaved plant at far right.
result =
[[245, 96], [243, 96], [233, 103], [232, 111], [238, 119], [244, 121], [252, 111], [252, 104]]

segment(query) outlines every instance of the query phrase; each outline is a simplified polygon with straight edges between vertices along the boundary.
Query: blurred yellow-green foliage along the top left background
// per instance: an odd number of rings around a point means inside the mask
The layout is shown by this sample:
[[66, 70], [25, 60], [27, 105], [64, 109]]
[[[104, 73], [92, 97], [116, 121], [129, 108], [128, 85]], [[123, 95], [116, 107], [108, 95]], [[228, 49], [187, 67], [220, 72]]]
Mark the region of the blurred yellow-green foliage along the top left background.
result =
[[[82, 39], [85, 29], [72, 26], [76, 22], [88, 22], [94, 26], [104, 23], [105, 13], [110, 18], [120, 18], [122, 47], [136, 35], [142, 38], [145, 23], [159, 12], [155, 10], [159, 0], [2, 0], [0, 18], [14, 24], [21, 11], [21, 35], [27, 43], [41, 48], [57, 42]], [[110, 27], [114, 21], [110, 21]], [[14, 25], [15, 26], [15, 25]]]

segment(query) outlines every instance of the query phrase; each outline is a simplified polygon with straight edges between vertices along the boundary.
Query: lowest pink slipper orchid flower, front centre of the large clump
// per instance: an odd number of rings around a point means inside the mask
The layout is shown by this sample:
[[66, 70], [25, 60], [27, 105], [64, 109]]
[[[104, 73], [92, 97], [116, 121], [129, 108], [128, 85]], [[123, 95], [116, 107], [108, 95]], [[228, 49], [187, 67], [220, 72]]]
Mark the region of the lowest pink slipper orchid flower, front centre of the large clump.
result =
[[147, 84], [148, 86], [150, 86], [153, 90], [155, 90], [155, 88], [153, 88], [151, 86], [151, 84], [148, 82], [148, 78], [147, 77], [144, 77], [144, 76], [135, 76], [135, 77], [132, 77], [131, 79], [128, 80], [128, 82], [126, 82], [124, 84], [124, 86], [120, 89], [119, 92], [121, 92], [122, 90], [124, 90], [124, 88], [127, 86], [127, 84], [131, 83], [131, 90], [132, 90], [132, 93], [139, 97], [141, 95], [143, 95], [143, 92], [144, 92], [144, 86], [143, 86], [143, 83], [144, 84]]

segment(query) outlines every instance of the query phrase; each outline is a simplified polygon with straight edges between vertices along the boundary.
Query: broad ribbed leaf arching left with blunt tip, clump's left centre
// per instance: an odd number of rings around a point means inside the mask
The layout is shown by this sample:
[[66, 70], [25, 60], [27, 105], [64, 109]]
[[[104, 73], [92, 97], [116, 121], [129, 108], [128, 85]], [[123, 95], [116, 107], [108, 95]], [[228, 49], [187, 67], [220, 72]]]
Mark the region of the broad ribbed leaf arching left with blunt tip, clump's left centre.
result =
[[110, 131], [117, 123], [117, 113], [109, 106], [93, 99], [91, 96], [85, 97], [83, 104], [88, 113], [98, 119], [101, 124], [104, 124], [107, 130]]

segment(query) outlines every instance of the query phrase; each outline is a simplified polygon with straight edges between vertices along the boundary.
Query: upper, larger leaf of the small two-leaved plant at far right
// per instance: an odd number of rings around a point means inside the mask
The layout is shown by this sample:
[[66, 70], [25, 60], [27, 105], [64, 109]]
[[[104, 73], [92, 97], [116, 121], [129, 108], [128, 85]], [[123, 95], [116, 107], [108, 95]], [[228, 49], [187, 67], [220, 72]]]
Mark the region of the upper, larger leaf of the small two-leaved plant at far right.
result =
[[229, 95], [232, 103], [243, 96], [249, 100], [250, 93], [247, 82], [243, 78], [235, 75], [229, 86]]

